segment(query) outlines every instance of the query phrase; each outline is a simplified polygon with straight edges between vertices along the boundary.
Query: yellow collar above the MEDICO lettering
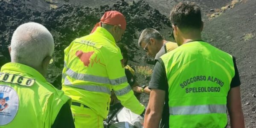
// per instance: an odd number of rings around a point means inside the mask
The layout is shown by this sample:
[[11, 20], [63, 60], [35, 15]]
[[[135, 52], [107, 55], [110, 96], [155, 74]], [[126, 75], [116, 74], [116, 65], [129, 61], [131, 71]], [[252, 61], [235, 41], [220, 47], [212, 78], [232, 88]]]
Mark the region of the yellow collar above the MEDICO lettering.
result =
[[10, 62], [10, 63], [4, 64], [3, 67], [1, 67], [1, 72], [3, 72], [4, 70], [12, 70], [20, 73], [26, 73], [37, 79], [40, 79], [43, 82], [47, 82], [47, 80], [44, 78], [44, 76], [41, 73], [39, 73], [34, 68], [24, 64]]

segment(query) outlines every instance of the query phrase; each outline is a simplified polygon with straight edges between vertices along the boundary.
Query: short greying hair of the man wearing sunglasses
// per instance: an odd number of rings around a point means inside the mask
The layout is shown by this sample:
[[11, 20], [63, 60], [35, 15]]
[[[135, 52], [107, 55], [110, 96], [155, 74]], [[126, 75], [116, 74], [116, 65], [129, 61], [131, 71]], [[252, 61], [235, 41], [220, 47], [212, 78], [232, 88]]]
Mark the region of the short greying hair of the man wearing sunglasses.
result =
[[139, 46], [141, 46], [141, 43], [143, 41], [148, 42], [150, 40], [150, 38], [154, 38], [158, 41], [163, 40], [163, 36], [156, 29], [146, 28], [140, 34], [140, 38], [139, 38], [139, 41], [138, 41]]

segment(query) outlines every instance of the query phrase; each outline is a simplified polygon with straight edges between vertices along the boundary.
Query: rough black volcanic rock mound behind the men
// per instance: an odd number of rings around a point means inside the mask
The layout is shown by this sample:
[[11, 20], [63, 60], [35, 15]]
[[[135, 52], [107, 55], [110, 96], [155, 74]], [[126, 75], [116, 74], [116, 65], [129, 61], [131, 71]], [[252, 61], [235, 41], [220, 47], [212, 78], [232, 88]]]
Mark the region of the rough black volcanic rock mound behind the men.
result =
[[[122, 37], [132, 51], [130, 58], [136, 54], [138, 33], [147, 27], [163, 29], [171, 26], [168, 18], [144, 1], [133, 2], [130, 5], [124, 0], [117, 1], [112, 7], [105, 5], [99, 8], [67, 4], [57, 9], [38, 12], [26, 8], [22, 0], [10, 0], [8, 3], [0, 3], [0, 66], [10, 61], [8, 46], [11, 42], [14, 30], [21, 24], [37, 22], [43, 24], [53, 35], [55, 41], [54, 63], [49, 68], [48, 81], [56, 87], [61, 87], [61, 70], [64, 61], [64, 49], [75, 38], [88, 35], [95, 23], [106, 11], [116, 10], [125, 15], [127, 29]], [[145, 61], [152, 63], [152, 61]]]

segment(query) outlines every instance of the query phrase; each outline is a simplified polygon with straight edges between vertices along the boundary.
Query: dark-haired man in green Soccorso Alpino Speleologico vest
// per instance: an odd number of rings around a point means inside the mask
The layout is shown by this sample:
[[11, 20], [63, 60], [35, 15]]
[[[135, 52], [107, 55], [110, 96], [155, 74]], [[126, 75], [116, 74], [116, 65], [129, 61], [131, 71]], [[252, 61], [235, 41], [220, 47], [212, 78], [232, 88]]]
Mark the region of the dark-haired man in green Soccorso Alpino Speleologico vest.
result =
[[[235, 58], [201, 39], [195, 3], [179, 3], [170, 14], [178, 48], [155, 64], [144, 128], [157, 128], [168, 95], [169, 128], [244, 128]], [[168, 92], [168, 93], [166, 93]]]

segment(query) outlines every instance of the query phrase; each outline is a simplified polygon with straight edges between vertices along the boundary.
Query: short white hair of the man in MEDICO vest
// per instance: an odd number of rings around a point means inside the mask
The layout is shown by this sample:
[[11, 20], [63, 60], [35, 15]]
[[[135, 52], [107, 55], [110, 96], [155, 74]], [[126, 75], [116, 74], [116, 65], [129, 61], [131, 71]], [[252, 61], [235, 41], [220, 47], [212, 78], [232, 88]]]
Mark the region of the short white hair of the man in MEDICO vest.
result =
[[47, 56], [52, 56], [52, 34], [39, 23], [24, 23], [17, 27], [11, 41], [12, 62], [37, 67]]

